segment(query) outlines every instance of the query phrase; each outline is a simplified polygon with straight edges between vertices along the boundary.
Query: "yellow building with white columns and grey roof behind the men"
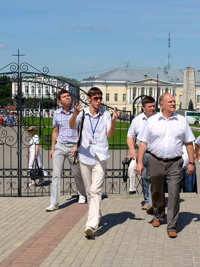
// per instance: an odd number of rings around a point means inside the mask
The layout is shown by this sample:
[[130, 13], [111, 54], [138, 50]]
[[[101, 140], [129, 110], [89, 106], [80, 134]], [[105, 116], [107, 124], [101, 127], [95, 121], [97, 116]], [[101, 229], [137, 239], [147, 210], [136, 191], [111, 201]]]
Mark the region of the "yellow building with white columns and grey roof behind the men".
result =
[[[80, 88], [88, 91], [91, 86], [103, 92], [103, 103], [122, 110], [132, 111], [132, 103], [139, 95], [150, 95], [156, 99], [165, 92], [176, 99], [176, 109], [182, 102], [184, 69], [131, 68], [111, 70], [80, 81]], [[157, 89], [158, 75], [158, 89]], [[195, 71], [196, 108], [200, 108], [200, 74]]]

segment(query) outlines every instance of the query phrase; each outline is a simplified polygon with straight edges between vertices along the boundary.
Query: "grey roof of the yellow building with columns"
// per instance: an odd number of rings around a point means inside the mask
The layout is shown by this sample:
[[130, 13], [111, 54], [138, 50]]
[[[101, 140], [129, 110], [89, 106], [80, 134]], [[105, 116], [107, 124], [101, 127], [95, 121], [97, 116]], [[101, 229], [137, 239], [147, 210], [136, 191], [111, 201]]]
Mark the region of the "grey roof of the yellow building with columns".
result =
[[[183, 83], [184, 81], [184, 69], [164, 69], [163, 68], [132, 68], [132, 67], [123, 67], [113, 69], [111, 71], [102, 73], [95, 77], [89, 77], [84, 79], [84, 81], [138, 81], [147, 78], [154, 78], [167, 82], [177, 82]], [[200, 73], [195, 71], [195, 80], [200, 82]]]

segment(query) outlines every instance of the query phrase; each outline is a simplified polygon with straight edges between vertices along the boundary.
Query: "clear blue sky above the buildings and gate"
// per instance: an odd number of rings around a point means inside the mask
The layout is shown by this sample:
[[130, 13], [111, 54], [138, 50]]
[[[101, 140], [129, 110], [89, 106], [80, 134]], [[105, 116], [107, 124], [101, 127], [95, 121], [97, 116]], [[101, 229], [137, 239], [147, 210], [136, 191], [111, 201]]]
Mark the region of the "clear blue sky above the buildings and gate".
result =
[[0, 25], [0, 68], [18, 48], [22, 61], [79, 80], [127, 62], [163, 67], [170, 32], [171, 68], [200, 69], [199, 0], [0, 0]]

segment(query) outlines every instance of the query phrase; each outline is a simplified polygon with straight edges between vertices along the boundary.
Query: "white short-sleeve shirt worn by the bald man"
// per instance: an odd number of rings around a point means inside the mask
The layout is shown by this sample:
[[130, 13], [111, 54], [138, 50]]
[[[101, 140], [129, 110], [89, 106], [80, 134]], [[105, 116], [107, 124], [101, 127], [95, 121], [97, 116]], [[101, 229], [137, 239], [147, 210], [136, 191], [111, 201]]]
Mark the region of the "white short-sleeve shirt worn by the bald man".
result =
[[138, 138], [152, 154], [169, 159], [182, 156], [183, 144], [195, 139], [185, 117], [175, 112], [168, 119], [161, 112], [149, 117]]

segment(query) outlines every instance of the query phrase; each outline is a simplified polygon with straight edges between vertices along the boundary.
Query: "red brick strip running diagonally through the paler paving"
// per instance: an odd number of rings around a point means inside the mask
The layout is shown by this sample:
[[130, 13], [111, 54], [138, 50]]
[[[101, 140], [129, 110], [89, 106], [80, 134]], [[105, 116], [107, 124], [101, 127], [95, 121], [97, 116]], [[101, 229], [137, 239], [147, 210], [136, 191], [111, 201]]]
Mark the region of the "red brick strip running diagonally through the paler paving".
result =
[[74, 203], [61, 209], [2, 261], [0, 266], [39, 266], [86, 212], [87, 204]]

